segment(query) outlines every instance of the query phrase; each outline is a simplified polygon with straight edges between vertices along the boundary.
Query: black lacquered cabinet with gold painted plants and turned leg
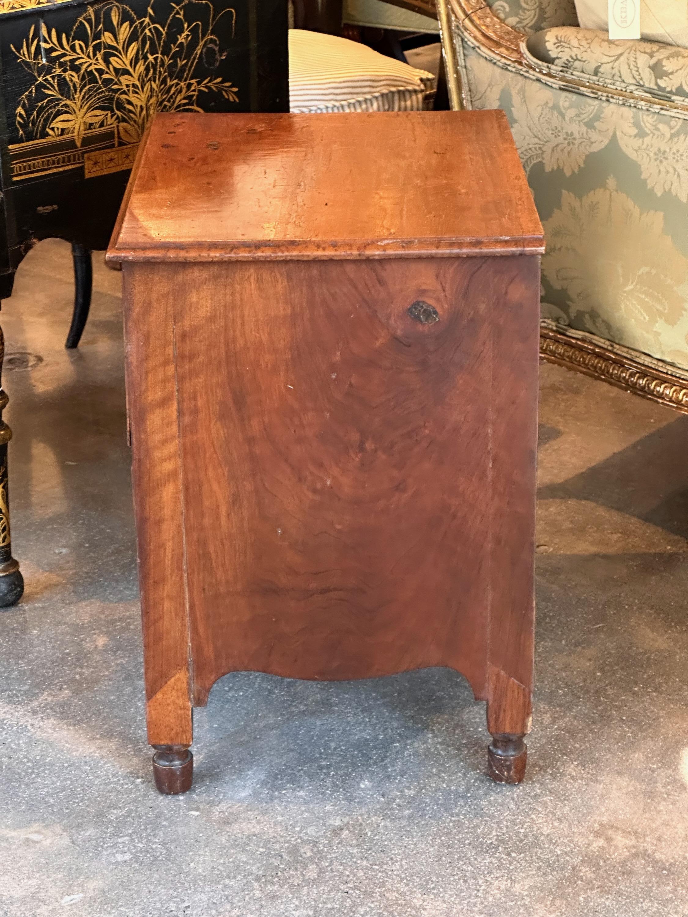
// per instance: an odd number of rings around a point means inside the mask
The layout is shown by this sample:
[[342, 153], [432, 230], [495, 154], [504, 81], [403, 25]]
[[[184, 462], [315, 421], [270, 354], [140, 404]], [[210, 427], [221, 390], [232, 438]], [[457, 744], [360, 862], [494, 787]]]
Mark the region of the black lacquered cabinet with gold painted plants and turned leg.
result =
[[[107, 247], [155, 112], [288, 108], [285, 0], [0, 0], [0, 300], [42, 238]], [[10, 436], [0, 419], [0, 605], [22, 592]]]

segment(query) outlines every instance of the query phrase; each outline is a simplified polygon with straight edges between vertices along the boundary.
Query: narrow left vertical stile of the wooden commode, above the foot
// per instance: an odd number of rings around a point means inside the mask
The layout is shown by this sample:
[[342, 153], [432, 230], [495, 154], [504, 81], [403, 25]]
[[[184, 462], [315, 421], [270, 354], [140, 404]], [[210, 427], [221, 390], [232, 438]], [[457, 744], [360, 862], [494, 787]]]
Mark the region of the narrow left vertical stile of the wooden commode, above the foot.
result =
[[125, 282], [127, 303], [137, 306], [125, 310], [125, 340], [148, 735], [153, 746], [189, 746], [189, 623], [173, 298], [151, 295], [145, 276], [137, 271], [127, 271]]

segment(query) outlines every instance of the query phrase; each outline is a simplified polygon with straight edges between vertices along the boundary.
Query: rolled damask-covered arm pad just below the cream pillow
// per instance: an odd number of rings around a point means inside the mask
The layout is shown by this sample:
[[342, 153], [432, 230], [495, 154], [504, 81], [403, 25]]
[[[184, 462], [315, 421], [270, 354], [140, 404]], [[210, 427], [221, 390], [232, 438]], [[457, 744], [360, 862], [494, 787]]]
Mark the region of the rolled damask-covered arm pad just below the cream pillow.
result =
[[553, 70], [594, 76], [610, 89], [637, 86], [666, 102], [688, 99], [688, 49], [659, 41], [610, 41], [587, 28], [548, 28], [531, 35], [527, 51]]

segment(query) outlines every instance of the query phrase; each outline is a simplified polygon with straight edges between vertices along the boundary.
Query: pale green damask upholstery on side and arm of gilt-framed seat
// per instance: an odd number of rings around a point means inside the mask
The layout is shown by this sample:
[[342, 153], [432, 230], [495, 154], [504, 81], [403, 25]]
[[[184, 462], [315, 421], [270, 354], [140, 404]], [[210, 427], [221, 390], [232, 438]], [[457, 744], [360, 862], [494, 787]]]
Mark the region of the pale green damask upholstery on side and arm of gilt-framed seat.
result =
[[[608, 41], [571, 43], [582, 29], [551, 31], [552, 58], [595, 83], [602, 69], [625, 86], [649, 74], [661, 89], [684, 85], [686, 51], [664, 46], [659, 59], [639, 41], [612, 54]], [[505, 110], [538, 205], [543, 315], [688, 370], [688, 110], [555, 87], [467, 41], [461, 50], [470, 103]]]

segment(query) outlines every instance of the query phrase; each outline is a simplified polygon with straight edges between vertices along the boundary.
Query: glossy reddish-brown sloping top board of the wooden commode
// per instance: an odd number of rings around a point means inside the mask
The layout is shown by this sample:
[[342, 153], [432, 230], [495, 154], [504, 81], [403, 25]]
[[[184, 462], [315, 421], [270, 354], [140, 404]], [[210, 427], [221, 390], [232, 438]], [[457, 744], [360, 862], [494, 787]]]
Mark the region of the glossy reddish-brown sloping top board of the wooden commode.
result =
[[541, 253], [502, 111], [159, 115], [111, 260]]

